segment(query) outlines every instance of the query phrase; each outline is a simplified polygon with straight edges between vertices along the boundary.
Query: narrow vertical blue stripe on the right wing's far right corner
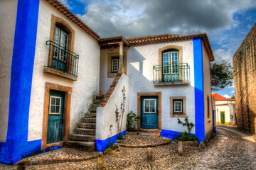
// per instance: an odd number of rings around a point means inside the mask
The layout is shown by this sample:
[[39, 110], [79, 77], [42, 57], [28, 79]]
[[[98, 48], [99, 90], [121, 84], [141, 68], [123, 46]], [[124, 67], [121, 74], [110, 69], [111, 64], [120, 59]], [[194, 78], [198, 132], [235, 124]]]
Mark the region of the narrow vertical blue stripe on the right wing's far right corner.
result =
[[193, 67], [195, 81], [195, 115], [196, 115], [196, 137], [200, 142], [205, 139], [205, 112], [203, 98], [203, 51], [201, 38], [193, 39]]

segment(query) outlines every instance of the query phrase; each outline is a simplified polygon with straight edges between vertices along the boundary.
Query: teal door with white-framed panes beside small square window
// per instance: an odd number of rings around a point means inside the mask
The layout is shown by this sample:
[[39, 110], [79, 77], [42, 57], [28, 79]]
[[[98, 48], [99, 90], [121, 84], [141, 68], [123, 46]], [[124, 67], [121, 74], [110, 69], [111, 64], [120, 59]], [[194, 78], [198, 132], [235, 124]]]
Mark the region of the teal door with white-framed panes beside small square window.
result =
[[144, 129], [158, 128], [158, 96], [141, 98], [141, 127]]

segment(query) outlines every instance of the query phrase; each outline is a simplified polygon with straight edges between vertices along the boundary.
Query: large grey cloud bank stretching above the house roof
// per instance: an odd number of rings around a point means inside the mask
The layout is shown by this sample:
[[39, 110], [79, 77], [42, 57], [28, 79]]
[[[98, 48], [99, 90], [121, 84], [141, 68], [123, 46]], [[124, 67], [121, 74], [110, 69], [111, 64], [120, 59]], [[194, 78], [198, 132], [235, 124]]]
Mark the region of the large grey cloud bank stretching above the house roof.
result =
[[252, 0], [91, 1], [80, 18], [102, 37], [182, 35], [230, 28], [233, 13], [252, 6]]

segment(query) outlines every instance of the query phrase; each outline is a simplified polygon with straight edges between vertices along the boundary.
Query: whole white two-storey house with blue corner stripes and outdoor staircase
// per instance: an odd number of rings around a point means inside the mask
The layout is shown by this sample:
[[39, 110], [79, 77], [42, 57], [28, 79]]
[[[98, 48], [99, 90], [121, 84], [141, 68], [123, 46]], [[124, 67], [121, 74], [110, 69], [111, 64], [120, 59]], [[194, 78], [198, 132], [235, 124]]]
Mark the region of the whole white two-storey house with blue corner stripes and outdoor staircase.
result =
[[125, 134], [129, 111], [141, 117], [137, 130], [172, 138], [186, 130], [177, 118], [188, 116], [191, 133], [210, 139], [214, 57], [205, 33], [100, 38], [55, 0], [1, 1], [0, 9], [0, 162], [68, 142], [104, 151]]

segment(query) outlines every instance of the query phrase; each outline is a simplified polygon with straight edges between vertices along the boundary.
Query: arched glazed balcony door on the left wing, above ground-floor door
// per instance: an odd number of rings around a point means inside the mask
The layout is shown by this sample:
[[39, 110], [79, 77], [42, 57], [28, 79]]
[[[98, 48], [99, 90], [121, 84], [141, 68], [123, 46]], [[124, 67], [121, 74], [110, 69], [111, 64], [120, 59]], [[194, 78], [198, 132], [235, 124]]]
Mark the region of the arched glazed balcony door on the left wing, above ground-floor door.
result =
[[62, 72], [66, 72], [68, 57], [68, 32], [61, 26], [55, 26], [54, 43], [57, 47], [53, 49], [52, 67]]

